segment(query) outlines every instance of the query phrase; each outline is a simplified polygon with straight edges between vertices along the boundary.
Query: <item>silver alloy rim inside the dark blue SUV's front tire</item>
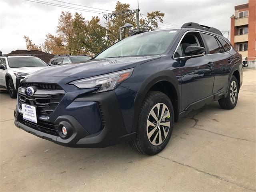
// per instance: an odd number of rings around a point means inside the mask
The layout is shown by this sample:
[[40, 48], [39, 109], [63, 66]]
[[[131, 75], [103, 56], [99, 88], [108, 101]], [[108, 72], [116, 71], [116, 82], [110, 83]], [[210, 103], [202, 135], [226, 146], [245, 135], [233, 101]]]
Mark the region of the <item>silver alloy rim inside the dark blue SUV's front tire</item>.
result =
[[146, 132], [148, 140], [154, 146], [164, 142], [170, 130], [170, 111], [164, 103], [156, 104], [150, 111]]

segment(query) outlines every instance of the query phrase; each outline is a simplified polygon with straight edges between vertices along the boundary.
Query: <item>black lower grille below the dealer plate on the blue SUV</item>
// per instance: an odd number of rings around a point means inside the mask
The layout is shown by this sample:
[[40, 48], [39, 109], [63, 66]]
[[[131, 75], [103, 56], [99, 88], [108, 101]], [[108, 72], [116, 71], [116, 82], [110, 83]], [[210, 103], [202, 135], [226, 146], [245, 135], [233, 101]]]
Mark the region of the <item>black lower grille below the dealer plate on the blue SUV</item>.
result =
[[21, 118], [21, 120], [19, 120], [22, 124], [25, 124], [26, 126], [33, 128], [35, 130], [47, 133], [47, 134], [51, 134], [51, 135], [55, 135], [55, 136], [59, 136], [58, 134], [58, 125], [56, 124], [50, 124], [50, 123], [46, 123], [43, 121], [38, 120], [37, 123], [33, 123], [30, 121], [27, 121], [23, 118]]

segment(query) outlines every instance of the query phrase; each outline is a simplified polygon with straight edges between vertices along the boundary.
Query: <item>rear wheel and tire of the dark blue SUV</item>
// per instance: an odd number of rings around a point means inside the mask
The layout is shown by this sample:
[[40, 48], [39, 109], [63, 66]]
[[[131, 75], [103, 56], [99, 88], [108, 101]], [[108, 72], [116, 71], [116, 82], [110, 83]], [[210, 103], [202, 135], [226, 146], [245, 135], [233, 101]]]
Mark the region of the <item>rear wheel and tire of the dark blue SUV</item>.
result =
[[222, 109], [233, 109], [236, 106], [239, 93], [239, 84], [235, 76], [232, 76], [228, 84], [228, 96], [219, 99], [218, 102]]

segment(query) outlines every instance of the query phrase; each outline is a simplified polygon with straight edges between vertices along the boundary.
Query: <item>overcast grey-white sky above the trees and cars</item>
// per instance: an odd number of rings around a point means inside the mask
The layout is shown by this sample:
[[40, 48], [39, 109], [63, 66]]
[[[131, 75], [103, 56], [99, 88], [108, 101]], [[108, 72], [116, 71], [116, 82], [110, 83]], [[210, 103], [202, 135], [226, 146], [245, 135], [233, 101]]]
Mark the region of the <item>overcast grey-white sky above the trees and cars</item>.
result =
[[[36, 1], [36, 0], [31, 0]], [[74, 6], [53, 0], [41, 0], [66, 6]], [[116, 1], [112, 0], [60, 0], [93, 8], [114, 10]], [[129, 3], [130, 8], [138, 7], [137, 0], [120, 0]], [[248, 3], [248, 0], [139, 0], [140, 13], [146, 14], [154, 10], [165, 13], [164, 22], [181, 26], [185, 22], [197, 22], [220, 30], [230, 30], [230, 16], [234, 14], [234, 6]], [[82, 9], [90, 9], [80, 7]], [[90, 19], [99, 16], [101, 23], [106, 21], [102, 14], [76, 11], [25, 0], [0, 0], [0, 50], [3, 54], [16, 49], [26, 49], [23, 36], [26, 35], [35, 44], [44, 42], [45, 35], [55, 34], [61, 11], [82, 13]], [[160, 28], [170, 28], [160, 26]], [[226, 36], [226, 35], [224, 35]]]

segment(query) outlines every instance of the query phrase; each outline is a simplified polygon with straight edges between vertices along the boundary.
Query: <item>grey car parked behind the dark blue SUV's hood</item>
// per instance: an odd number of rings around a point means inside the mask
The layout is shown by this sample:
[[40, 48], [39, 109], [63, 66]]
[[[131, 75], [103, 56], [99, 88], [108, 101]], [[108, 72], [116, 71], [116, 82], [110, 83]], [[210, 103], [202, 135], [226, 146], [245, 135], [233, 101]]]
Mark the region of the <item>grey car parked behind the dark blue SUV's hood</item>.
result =
[[49, 62], [49, 66], [60, 66], [70, 63], [84, 62], [91, 59], [89, 56], [69, 56], [69, 55], [56, 55]]

